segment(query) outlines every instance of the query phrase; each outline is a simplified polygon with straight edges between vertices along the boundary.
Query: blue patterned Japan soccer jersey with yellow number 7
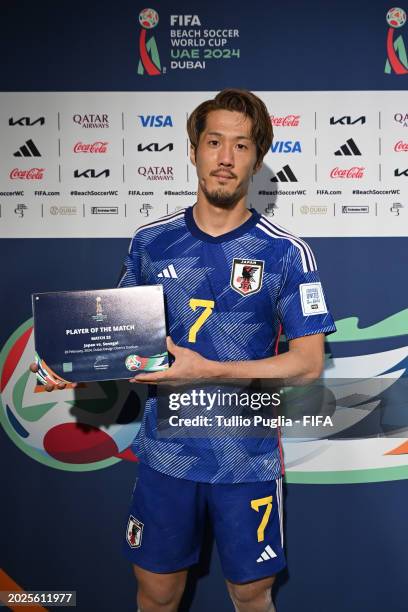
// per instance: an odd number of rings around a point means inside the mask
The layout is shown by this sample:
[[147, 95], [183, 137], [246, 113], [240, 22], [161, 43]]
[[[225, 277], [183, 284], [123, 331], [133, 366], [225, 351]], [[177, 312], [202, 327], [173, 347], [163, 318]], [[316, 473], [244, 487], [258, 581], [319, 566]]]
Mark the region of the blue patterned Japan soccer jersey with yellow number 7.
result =
[[[271, 357], [288, 340], [336, 330], [310, 247], [252, 210], [235, 230], [202, 232], [193, 208], [138, 229], [120, 286], [162, 284], [168, 332], [179, 346], [216, 361]], [[233, 483], [281, 475], [278, 436], [167, 437], [157, 431], [149, 388], [133, 450], [151, 468], [178, 478]]]

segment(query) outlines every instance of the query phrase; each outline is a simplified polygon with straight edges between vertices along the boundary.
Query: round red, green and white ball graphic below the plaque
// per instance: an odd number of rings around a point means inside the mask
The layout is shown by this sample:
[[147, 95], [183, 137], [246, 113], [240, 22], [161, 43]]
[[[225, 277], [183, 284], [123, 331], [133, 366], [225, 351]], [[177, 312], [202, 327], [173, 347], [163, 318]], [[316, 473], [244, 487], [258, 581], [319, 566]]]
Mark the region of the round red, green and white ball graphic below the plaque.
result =
[[26, 455], [72, 472], [99, 470], [121, 459], [140, 429], [140, 401], [127, 381], [83, 383], [47, 393], [29, 371], [35, 349], [32, 319], [0, 353], [0, 423]]

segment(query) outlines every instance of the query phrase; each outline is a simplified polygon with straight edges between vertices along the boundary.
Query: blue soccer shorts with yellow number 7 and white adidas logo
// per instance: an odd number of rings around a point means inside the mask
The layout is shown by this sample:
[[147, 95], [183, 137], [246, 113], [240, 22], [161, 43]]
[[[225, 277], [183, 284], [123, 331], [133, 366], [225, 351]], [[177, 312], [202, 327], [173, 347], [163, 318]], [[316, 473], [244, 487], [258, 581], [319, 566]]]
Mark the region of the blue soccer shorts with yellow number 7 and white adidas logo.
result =
[[156, 573], [197, 563], [209, 513], [224, 576], [251, 582], [286, 565], [282, 479], [210, 484], [139, 464], [126, 525], [125, 556]]

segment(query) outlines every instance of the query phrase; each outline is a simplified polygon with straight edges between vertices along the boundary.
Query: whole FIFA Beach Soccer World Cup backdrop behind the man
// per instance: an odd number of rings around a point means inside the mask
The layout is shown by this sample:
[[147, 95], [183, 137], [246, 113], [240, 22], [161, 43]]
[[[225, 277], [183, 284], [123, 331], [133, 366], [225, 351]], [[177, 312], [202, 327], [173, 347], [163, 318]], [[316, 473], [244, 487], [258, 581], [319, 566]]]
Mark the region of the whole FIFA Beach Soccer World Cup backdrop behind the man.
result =
[[[338, 327], [325, 377], [345, 415], [336, 435], [285, 443], [278, 609], [406, 609], [407, 9], [2, 3], [0, 591], [135, 609], [121, 542], [142, 394], [39, 392], [30, 295], [114, 286], [134, 230], [195, 201], [188, 113], [242, 87], [275, 132], [249, 203], [315, 251]], [[182, 609], [210, 606], [233, 609], [208, 533]]]

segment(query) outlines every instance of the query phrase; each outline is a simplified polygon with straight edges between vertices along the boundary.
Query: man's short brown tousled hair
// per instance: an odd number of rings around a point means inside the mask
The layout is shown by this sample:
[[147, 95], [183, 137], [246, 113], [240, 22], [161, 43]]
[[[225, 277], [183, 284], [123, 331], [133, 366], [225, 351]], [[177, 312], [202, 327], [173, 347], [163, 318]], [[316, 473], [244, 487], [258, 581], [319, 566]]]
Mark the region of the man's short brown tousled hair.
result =
[[194, 150], [205, 130], [208, 113], [215, 110], [237, 111], [252, 120], [251, 138], [256, 145], [256, 164], [260, 164], [273, 140], [271, 119], [262, 100], [246, 89], [223, 89], [214, 99], [199, 104], [187, 120], [187, 132]]

